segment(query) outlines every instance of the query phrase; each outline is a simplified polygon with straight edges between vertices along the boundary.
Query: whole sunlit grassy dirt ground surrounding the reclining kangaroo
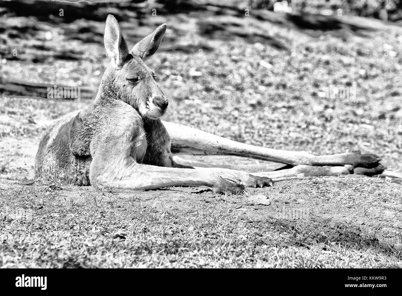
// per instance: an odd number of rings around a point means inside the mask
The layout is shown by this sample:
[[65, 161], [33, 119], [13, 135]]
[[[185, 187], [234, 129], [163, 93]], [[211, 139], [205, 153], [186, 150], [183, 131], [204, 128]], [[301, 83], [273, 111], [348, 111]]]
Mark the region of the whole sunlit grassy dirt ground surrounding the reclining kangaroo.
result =
[[[168, 24], [147, 60], [170, 99], [164, 120], [275, 149], [360, 149], [401, 171], [401, 27], [259, 10], [244, 17], [213, 7], [141, 19], [122, 13], [131, 45]], [[108, 62], [101, 17], [56, 18], [55, 26], [0, 18], [2, 87], [11, 83], [0, 97], [0, 267], [402, 267], [397, 179], [289, 180], [239, 196], [31, 181], [45, 127], [96, 93]], [[80, 101], [45, 99], [43, 87], [32, 97], [16, 82], [88, 92]], [[322, 96], [325, 87], [353, 83], [356, 99]], [[197, 161], [271, 166], [236, 157]], [[250, 202], [258, 194], [269, 205]]]

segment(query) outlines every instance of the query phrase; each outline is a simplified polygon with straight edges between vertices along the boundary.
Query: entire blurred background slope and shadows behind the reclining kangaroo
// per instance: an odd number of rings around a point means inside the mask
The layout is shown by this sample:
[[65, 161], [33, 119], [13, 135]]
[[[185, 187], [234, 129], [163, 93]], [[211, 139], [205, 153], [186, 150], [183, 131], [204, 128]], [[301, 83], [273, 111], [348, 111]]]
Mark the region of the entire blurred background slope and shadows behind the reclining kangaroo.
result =
[[[108, 14], [130, 46], [168, 29], [146, 63], [164, 120], [230, 139], [401, 170], [402, 3], [397, 0], [0, 1], [0, 176], [33, 177], [51, 120], [86, 106], [109, 59]], [[80, 98], [48, 98], [48, 87]]]

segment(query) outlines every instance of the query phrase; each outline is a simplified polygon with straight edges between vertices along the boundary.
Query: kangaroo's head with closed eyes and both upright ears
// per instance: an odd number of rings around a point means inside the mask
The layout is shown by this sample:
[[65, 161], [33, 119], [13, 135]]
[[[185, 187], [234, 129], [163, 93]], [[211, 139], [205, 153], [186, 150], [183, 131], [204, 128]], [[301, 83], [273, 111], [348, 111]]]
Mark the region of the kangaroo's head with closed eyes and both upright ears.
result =
[[165, 31], [166, 24], [159, 26], [129, 51], [115, 17], [109, 14], [106, 20], [104, 42], [111, 62], [100, 88], [106, 95], [133, 106], [144, 118], [157, 119], [168, 107], [155, 73], [143, 62], [156, 52]]

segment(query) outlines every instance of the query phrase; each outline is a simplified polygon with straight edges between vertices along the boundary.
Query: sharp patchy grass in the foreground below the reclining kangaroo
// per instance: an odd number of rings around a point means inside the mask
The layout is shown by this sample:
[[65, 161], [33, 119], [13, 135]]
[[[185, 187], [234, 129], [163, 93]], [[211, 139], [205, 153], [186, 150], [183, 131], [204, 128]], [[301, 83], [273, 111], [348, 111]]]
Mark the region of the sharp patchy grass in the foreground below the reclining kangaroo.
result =
[[[24, 185], [31, 184], [31, 185]], [[271, 204], [198, 188], [95, 190], [0, 179], [2, 267], [401, 267], [400, 184], [280, 182]], [[302, 219], [284, 218], [308, 209]]]

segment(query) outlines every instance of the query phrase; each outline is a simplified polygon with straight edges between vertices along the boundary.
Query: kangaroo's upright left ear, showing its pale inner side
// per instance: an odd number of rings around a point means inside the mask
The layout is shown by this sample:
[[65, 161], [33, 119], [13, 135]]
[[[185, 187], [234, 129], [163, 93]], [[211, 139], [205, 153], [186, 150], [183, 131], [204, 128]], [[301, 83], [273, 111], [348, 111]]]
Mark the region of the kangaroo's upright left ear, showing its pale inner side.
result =
[[113, 15], [109, 14], [106, 19], [105, 36], [103, 37], [106, 53], [120, 66], [129, 56], [127, 44], [121, 35], [119, 24]]

